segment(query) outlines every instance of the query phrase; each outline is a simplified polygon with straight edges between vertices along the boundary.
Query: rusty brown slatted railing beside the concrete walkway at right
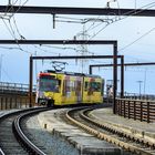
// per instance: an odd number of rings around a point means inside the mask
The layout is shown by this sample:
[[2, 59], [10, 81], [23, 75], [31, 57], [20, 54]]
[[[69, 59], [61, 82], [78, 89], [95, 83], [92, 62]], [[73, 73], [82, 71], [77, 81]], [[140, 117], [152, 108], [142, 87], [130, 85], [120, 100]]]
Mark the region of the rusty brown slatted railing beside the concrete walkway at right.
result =
[[155, 102], [116, 99], [116, 114], [141, 122], [155, 122]]

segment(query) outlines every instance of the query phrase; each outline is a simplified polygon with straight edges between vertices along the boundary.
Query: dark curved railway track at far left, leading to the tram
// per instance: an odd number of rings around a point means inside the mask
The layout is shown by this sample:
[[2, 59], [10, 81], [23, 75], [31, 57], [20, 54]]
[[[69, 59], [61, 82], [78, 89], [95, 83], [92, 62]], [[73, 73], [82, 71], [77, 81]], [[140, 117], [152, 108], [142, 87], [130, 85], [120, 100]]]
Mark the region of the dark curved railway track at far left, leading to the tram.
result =
[[[28, 108], [0, 117], [0, 154], [4, 155], [45, 155], [24, 134], [23, 120], [46, 108]], [[41, 146], [40, 146], [41, 147]]]

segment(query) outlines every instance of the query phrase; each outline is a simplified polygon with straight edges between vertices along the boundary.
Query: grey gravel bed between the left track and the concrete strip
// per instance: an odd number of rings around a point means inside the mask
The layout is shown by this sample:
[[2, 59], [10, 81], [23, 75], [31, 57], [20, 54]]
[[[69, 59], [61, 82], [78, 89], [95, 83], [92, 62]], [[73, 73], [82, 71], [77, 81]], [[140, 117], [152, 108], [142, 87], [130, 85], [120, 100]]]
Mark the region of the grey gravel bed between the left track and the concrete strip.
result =
[[70, 143], [56, 135], [43, 130], [38, 121], [38, 116], [33, 116], [27, 121], [29, 137], [41, 146], [43, 152], [48, 155], [79, 155], [76, 148]]

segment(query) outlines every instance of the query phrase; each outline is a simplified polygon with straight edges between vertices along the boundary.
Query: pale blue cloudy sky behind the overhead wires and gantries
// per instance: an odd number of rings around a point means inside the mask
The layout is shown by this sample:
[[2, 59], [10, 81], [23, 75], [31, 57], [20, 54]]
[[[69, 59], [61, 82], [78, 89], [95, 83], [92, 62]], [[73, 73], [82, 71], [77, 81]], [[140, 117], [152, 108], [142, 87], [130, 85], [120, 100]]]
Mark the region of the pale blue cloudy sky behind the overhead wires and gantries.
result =
[[[0, 4], [8, 4], [9, 0], [0, 0]], [[17, 6], [46, 6], [46, 7], [90, 7], [106, 8], [107, 0], [13, 0]], [[117, 0], [110, 2], [111, 8], [155, 9], [154, 0]], [[91, 16], [56, 16], [55, 29], [51, 14], [0, 14], [0, 39], [82, 39], [81, 33], [85, 30], [85, 39], [92, 40], [117, 40], [118, 53], [124, 54], [125, 62], [153, 62], [155, 18], [133, 17], [91, 17]], [[85, 24], [83, 20], [92, 19]], [[105, 22], [101, 22], [101, 19]], [[61, 21], [61, 22], [60, 22]], [[63, 22], [62, 22], [63, 21]], [[78, 23], [74, 23], [74, 22]], [[100, 21], [100, 22], [99, 22]], [[113, 21], [113, 22], [112, 22]], [[89, 45], [87, 54], [112, 54], [112, 46]], [[80, 55], [80, 45], [0, 45], [0, 80], [28, 83], [29, 82], [29, 56], [35, 55]], [[111, 63], [107, 60], [91, 60], [84, 63], [84, 72], [89, 64]], [[81, 61], [68, 61], [68, 71], [73, 69], [79, 72]], [[43, 69], [52, 69], [51, 62], [37, 62], [34, 74]], [[155, 68], [127, 68], [125, 72], [125, 90], [138, 92], [138, 80], [145, 83], [143, 92], [155, 93], [154, 75]], [[93, 70], [105, 80], [112, 79], [111, 69]], [[147, 76], [146, 76], [147, 72]], [[132, 74], [132, 76], [131, 76]], [[35, 81], [35, 79], [34, 79]], [[131, 87], [131, 84], [133, 83]]]

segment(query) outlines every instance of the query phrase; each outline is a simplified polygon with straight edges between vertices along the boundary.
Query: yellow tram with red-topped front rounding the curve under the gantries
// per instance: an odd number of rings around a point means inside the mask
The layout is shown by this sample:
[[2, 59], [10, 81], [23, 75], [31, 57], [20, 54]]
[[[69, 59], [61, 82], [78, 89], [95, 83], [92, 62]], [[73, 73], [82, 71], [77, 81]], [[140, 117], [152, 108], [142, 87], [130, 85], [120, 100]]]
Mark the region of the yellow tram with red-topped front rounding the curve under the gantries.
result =
[[54, 106], [103, 103], [104, 80], [99, 75], [40, 72], [37, 82], [37, 104]]

